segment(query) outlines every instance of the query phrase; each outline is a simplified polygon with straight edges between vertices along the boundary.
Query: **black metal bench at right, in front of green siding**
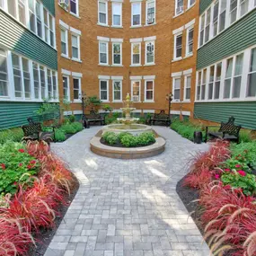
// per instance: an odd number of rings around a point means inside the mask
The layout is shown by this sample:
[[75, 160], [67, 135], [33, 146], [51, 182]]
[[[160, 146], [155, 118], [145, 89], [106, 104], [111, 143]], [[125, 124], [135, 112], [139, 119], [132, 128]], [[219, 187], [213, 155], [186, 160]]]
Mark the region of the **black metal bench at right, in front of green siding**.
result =
[[218, 131], [210, 131], [209, 128], [215, 128], [218, 126], [207, 126], [206, 127], [206, 139], [207, 137], [216, 137], [221, 139], [226, 139], [229, 141], [235, 141], [239, 143], [239, 132], [242, 128], [241, 126], [234, 125], [234, 117], [230, 117], [226, 123], [221, 122], [220, 128]]

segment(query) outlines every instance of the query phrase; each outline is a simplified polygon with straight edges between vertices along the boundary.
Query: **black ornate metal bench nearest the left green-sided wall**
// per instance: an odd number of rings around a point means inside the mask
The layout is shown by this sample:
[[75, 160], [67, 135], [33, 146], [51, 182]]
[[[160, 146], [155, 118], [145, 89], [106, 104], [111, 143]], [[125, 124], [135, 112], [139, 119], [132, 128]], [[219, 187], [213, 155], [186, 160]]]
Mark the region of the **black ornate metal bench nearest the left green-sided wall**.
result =
[[43, 131], [41, 124], [38, 122], [34, 122], [32, 118], [28, 118], [28, 125], [22, 126], [22, 130], [24, 133], [24, 137], [22, 137], [22, 141], [29, 140], [44, 140], [48, 144], [52, 141], [56, 141], [55, 139], [55, 127], [47, 127], [51, 129], [51, 131]]

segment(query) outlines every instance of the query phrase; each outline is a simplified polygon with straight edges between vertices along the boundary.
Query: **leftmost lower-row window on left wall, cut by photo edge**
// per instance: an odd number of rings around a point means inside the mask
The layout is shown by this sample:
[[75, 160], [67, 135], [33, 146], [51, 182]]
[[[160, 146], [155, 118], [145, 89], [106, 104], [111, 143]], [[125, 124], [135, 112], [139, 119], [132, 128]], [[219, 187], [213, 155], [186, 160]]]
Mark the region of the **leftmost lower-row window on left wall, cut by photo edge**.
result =
[[7, 56], [4, 49], [0, 49], [0, 97], [8, 96]]

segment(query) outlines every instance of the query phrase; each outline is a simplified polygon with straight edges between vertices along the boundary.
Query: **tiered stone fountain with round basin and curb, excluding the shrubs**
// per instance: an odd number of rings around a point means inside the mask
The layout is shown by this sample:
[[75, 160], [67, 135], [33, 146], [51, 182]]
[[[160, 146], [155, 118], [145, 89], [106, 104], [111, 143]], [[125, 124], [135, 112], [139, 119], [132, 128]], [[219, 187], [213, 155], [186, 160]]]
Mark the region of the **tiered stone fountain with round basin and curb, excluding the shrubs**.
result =
[[[132, 102], [130, 101], [129, 94], [126, 97], [126, 101], [124, 102], [124, 108], [121, 110], [125, 114], [124, 119], [118, 119], [117, 124], [110, 124], [105, 126], [100, 130], [96, 136], [94, 136], [91, 140], [91, 150], [95, 154], [100, 154], [102, 156], [107, 156], [110, 158], [119, 158], [119, 159], [137, 159], [144, 157], [152, 157], [157, 154], [161, 154], [165, 148], [165, 139], [163, 137], [159, 137], [154, 129], [150, 126], [137, 124], [138, 119], [131, 118], [130, 113], [135, 108], [132, 108]], [[107, 146], [101, 143], [102, 135], [105, 132], [128, 132], [134, 136], [137, 136], [144, 132], [154, 132], [155, 134], [155, 143], [150, 146], [141, 146], [141, 147], [115, 147], [115, 146]]]

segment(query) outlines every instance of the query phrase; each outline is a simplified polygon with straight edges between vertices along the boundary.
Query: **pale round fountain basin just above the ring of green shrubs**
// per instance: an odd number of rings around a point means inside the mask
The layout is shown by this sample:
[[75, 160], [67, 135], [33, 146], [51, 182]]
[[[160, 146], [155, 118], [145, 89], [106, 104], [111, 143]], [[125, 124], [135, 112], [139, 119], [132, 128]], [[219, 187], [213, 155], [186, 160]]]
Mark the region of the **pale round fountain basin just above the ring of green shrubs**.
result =
[[114, 133], [121, 133], [121, 132], [128, 132], [134, 136], [140, 135], [144, 132], [150, 132], [153, 131], [152, 127], [141, 125], [141, 124], [111, 124], [108, 126], [105, 126], [102, 129], [102, 133], [105, 132], [114, 132]]

